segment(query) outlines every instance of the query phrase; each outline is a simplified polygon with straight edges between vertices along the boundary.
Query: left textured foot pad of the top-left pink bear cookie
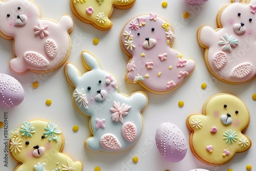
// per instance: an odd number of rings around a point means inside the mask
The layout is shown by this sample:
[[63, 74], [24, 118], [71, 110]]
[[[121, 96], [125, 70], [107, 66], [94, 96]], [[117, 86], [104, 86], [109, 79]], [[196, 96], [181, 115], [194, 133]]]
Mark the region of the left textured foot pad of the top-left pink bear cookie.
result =
[[28, 62], [32, 66], [36, 67], [47, 67], [49, 66], [49, 61], [42, 56], [41, 54], [34, 51], [27, 51], [23, 55], [26, 62]]

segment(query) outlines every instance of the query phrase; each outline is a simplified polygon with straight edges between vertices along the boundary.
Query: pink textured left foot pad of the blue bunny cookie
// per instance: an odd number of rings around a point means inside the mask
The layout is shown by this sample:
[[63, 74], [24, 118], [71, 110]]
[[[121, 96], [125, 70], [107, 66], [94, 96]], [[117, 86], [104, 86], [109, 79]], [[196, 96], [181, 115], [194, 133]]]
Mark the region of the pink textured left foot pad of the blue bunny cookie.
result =
[[118, 151], [122, 148], [117, 137], [113, 134], [104, 134], [100, 137], [100, 145], [110, 151]]

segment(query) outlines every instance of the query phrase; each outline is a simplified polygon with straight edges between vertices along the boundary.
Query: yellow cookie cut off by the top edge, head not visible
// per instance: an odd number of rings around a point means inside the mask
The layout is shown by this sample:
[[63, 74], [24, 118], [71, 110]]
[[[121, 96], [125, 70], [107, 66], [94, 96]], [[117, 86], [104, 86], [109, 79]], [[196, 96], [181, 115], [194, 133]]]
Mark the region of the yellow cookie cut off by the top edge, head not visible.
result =
[[93, 25], [99, 30], [112, 27], [109, 19], [113, 8], [127, 9], [135, 0], [70, 0], [71, 10], [82, 22]]

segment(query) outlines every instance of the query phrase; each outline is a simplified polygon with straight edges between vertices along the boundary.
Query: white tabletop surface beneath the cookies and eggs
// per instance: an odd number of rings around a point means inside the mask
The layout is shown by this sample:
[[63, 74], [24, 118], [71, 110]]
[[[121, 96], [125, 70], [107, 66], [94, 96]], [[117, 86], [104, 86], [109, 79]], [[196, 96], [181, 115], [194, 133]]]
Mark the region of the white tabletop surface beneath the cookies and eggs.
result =
[[[89, 1], [89, 0], [88, 0]], [[108, 1], [108, 0], [105, 0]], [[187, 171], [194, 168], [205, 168], [209, 170], [233, 171], [246, 170], [246, 165], [251, 164], [252, 170], [256, 168], [253, 163], [255, 156], [256, 126], [255, 118], [256, 101], [251, 95], [256, 93], [256, 80], [253, 79], [244, 84], [228, 84], [216, 79], [205, 67], [203, 49], [197, 42], [197, 29], [202, 25], [216, 28], [216, 15], [219, 9], [230, 3], [230, 0], [209, 0], [203, 6], [190, 5], [183, 0], [167, 0], [167, 8], [162, 8], [162, 1], [137, 0], [134, 6], [127, 10], [114, 9], [111, 16], [113, 27], [108, 31], [99, 31], [93, 26], [82, 23], [71, 12], [68, 0], [36, 0], [41, 9], [42, 17], [59, 20], [62, 14], [69, 14], [74, 20], [74, 29], [71, 35], [72, 51], [68, 62], [73, 63], [81, 73], [86, 69], [81, 62], [80, 53], [88, 50], [95, 54], [101, 63], [101, 68], [111, 72], [119, 81], [120, 93], [130, 95], [134, 91], [143, 90], [138, 84], [130, 84], [124, 80], [126, 64], [129, 60], [119, 45], [119, 34], [124, 24], [130, 18], [142, 13], [155, 13], [164, 17], [173, 25], [176, 38], [173, 48], [184, 55], [184, 58], [194, 59], [196, 69], [193, 74], [186, 77], [179, 88], [164, 95], [152, 94], [147, 91], [148, 105], [143, 111], [144, 130], [137, 143], [127, 151], [121, 153], [91, 152], [84, 146], [84, 140], [90, 136], [89, 118], [82, 116], [73, 106], [73, 88], [69, 85], [64, 71], [64, 66], [50, 74], [35, 74], [27, 72], [18, 75], [9, 68], [9, 60], [14, 57], [12, 41], [0, 38], [0, 73], [14, 76], [25, 89], [25, 99], [15, 109], [0, 109], [0, 121], [3, 121], [4, 112], [8, 112], [8, 130], [15, 129], [26, 120], [42, 118], [56, 123], [63, 132], [66, 142], [63, 152], [69, 154], [75, 161], [83, 163], [83, 170], [94, 170], [100, 166], [101, 170], [158, 170], [164, 171]], [[151, 2], [151, 3], [150, 3]], [[190, 12], [190, 18], [184, 19], [183, 12]], [[99, 44], [93, 45], [94, 37], [99, 38]], [[33, 81], [39, 82], [39, 87], [33, 89]], [[201, 89], [201, 83], [207, 83], [207, 89]], [[251, 148], [234, 156], [234, 158], [223, 166], [210, 166], [200, 162], [191, 153], [188, 147], [186, 157], [178, 163], [170, 163], [161, 158], [155, 145], [155, 131], [162, 122], [170, 121], [183, 131], [187, 138], [189, 131], [186, 127], [186, 117], [193, 113], [201, 113], [202, 106], [209, 97], [217, 93], [230, 93], [241, 98], [247, 105], [251, 114], [251, 124], [245, 134], [252, 141]], [[46, 106], [46, 99], [52, 100], [51, 106]], [[184, 101], [184, 107], [178, 107], [178, 101]], [[79, 126], [79, 131], [73, 133], [73, 125]], [[9, 155], [8, 167], [4, 167], [4, 129], [0, 129], [0, 170], [13, 170], [18, 164]], [[132, 163], [134, 156], [139, 157], [137, 164]], [[254, 159], [255, 161], [255, 159]], [[51, 171], [51, 170], [47, 170]]]

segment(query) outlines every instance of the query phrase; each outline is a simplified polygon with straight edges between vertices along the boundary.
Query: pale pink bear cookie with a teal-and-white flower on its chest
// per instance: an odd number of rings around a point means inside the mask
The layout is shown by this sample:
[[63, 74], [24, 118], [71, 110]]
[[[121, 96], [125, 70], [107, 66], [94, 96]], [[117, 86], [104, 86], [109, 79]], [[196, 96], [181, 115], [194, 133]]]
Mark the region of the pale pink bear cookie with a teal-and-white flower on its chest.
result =
[[231, 0], [217, 15], [217, 29], [199, 28], [197, 35], [199, 45], [205, 49], [205, 64], [218, 79], [243, 83], [254, 78], [255, 13], [255, 0]]

